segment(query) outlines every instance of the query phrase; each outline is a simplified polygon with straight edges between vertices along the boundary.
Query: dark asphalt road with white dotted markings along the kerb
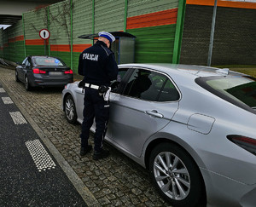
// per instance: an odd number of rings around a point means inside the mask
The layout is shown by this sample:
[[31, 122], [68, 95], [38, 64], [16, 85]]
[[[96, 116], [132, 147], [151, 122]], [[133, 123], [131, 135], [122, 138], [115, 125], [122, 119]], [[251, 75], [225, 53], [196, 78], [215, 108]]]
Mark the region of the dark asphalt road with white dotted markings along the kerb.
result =
[[0, 84], [0, 205], [86, 206]]

